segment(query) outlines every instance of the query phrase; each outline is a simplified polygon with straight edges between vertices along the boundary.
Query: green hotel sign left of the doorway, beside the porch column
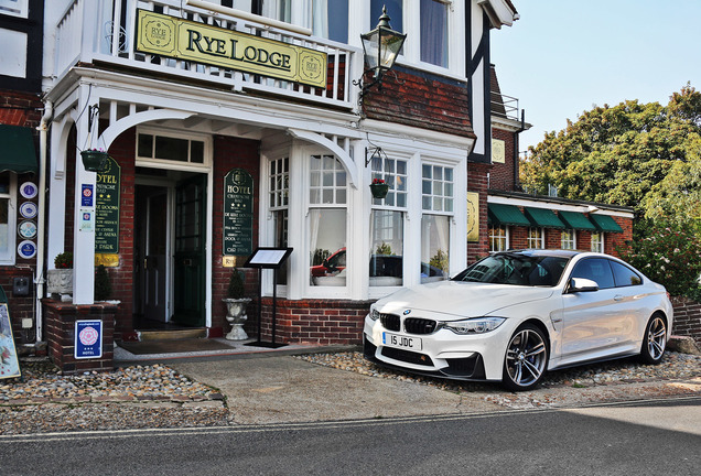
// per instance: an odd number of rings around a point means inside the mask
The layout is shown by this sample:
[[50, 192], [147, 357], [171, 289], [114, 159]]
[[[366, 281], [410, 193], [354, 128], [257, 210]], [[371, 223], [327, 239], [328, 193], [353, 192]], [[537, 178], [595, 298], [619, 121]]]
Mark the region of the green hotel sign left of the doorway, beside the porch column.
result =
[[109, 158], [109, 167], [97, 174], [95, 192], [95, 252], [119, 252], [119, 186], [121, 167]]

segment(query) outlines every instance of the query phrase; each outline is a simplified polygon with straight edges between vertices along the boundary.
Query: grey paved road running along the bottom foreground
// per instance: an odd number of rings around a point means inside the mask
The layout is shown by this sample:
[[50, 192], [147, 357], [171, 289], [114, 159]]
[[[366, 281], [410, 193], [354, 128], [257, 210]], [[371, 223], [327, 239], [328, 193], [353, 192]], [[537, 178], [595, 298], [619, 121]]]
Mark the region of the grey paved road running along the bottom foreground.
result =
[[701, 398], [572, 410], [0, 436], [3, 475], [697, 475]]

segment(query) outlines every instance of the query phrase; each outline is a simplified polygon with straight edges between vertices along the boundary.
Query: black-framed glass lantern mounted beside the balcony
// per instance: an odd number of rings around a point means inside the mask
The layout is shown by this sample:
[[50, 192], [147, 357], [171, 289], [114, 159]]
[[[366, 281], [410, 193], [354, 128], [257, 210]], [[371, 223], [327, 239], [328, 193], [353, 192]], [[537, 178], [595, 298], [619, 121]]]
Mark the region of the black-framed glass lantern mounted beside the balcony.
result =
[[[397, 55], [399, 55], [407, 39], [406, 34], [401, 34], [391, 29], [389, 20], [387, 8], [382, 7], [382, 14], [375, 30], [360, 35], [365, 62], [368, 66], [367, 69], [363, 72], [360, 79], [353, 82], [354, 85], [360, 86], [360, 99], [363, 99], [363, 96], [365, 96], [373, 86], [377, 85], [378, 89], [381, 89], [382, 77], [395, 65]], [[369, 73], [373, 73], [373, 78], [367, 83], [365, 82], [365, 76]]]

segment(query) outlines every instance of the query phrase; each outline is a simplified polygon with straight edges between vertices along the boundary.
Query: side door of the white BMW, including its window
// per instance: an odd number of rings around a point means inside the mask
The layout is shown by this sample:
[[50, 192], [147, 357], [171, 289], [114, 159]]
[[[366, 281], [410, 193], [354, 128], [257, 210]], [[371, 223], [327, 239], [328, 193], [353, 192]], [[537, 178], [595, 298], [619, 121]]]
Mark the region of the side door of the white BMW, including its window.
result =
[[633, 327], [629, 313], [632, 299], [629, 293], [622, 293], [615, 286], [610, 260], [583, 259], [572, 270], [572, 278], [592, 280], [598, 289], [583, 292], [565, 289], [560, 365], [619, 353], [629, 340]]

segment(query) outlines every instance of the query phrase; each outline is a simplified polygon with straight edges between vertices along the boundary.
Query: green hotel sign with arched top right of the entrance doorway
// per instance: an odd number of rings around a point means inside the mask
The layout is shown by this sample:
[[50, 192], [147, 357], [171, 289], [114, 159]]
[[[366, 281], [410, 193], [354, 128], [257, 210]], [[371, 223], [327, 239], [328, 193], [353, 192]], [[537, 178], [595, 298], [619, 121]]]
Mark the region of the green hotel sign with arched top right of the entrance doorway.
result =
[[254, 178], [242, 169], [224, 177], [224, 256], [254, 252]]

